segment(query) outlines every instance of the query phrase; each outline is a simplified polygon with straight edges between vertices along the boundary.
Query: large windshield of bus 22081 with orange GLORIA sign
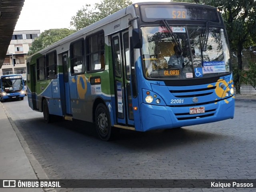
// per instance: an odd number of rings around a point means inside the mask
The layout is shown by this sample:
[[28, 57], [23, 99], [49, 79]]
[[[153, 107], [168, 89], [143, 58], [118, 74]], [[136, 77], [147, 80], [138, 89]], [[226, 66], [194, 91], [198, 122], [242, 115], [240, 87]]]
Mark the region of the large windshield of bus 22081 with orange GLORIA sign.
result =
[[142, 27], [144, 75], [152, 79], [214, 77], [230, 73], [230, 52], [223, 28], [208, 26]]

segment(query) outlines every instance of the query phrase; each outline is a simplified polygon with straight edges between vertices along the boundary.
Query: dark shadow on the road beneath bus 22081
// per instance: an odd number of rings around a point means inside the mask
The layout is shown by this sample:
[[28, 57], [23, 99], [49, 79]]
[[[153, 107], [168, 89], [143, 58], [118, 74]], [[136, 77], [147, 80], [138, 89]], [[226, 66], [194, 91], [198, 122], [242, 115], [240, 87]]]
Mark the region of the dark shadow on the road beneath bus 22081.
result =
[[[22, 120], [21, 120], [22, 122]], [[20, 123], [21, 123], [20, 122]], [[20, 124], [19, 122], [16, 122]], [[25, 122], [23, 122], [25, 123]], [[36, 125], [36, 126], [33, 126]], [[17, 126], [18, 127], [18, 126]], [[24, 126], [23, 126], [24, 127]], [[27, 131], [26, 131], [27, 129]], [[48, 137], [49, 140], [55, 140], [56, 143], [70, 140], [78, 143], [97, 143], [102, 147], [129, 148], [130, 150], [159, 150], [170, 148], [172, 146], [182, 146], [204, 142], [218, 142], [228, 139], [224, 135], [197, 129], [197, 127], [174, 128], [167, 130], [156, 130], [148, 132], [130, 131], [121, 129], [117, 137], [110, 142], [101, 141], [98, 138], [93, 123], [84, 121], [62, 121], [46, 124], [41, 118], [26, 119], [26, 128], [22, 132], [34, 131], [42, 137]], [[25, 138], [26, 139], [26, 138]]]

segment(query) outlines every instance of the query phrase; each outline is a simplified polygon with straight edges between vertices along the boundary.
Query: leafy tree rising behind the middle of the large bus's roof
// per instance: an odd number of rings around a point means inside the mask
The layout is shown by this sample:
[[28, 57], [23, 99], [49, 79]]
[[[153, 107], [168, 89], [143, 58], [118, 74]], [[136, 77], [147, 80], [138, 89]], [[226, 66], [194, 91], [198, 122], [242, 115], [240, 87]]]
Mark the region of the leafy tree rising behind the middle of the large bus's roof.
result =
[[102, 0], [100, 3], [94, 4], [94, 6], [86, 4], [82, 9], [78, 10], [76, 16], [71, 18], [70, 26], [80, 30], [130, 4], [132, 4], [130, 0]]

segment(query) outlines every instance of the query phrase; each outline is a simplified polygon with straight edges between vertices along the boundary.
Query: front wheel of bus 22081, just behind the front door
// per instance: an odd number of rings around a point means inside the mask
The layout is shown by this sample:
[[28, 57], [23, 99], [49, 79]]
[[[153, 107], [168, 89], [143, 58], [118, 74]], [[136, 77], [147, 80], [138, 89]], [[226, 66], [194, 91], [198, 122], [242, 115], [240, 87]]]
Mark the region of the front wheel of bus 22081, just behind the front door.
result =
[[110, 141], [115, 136], [115, 129], [111, 127], [110, 115], [107, 107], [100, 103], [95, 112], [95, 126], [98, 136], [103, 141]]

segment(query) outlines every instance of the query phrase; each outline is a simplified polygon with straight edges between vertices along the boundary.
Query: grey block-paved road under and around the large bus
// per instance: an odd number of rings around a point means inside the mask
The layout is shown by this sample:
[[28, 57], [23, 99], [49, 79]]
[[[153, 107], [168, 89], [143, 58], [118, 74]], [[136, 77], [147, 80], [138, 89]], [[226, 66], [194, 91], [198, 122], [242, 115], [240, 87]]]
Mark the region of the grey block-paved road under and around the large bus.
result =
[[[235, 118], [97, 138], [90, 123], [45, 124], [24, 101], [3, 103], [50, 179], [255, 179], [256, 103], [236, 102]], [[56, 189], [57, 191], [225, 191], [236, 189]], [[245, 189], [238, 189], [245, 191]], [[246, 191], [256, 191], [247, 189]]]

